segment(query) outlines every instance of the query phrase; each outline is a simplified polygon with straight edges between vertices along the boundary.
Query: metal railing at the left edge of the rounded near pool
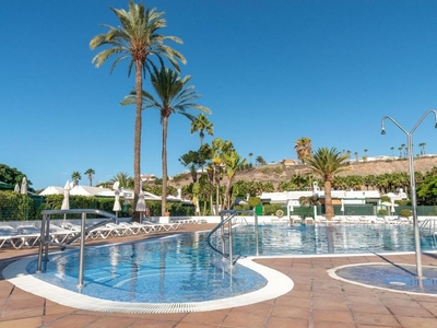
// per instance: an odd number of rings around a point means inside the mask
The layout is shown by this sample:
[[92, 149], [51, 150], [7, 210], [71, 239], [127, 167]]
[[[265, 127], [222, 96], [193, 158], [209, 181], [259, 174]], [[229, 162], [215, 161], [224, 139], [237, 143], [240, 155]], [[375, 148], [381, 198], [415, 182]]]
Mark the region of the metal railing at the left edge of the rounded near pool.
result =
[[[81, 214], [81, 232], [80, 234], [74, 235], [72, 238], [64, 243], [56, 243], [52, 242], [50, 238], [50, 215], [51, 214]], [[86, 214], [97, 214], [104, 218], [107, 218], [107, 220], [98, 222], [96, 224], [93, 224], [88, 227], [86, 227]], [[79, 283], [78, 286], [82, 288], [83, 286], [83, 271], [84, 271], [84, 259], [85, 259], [85, 237], [86, 234], [101, 226], [105, 225], [108, 222], [116, 222], [117, 216], [105, 212], [101, 210], [93, 210], [93, 209], [74, 209], [74, 210], [47, 210], [43, 211], [43, 220], [42, 220], [42, 226], [40, 226], [40, 243], [39, 243], [39, 250], [38, 250], [38, 261], [37, 261], [37, 272], [44, 272], [47, 269], [47, 261], [48, 261], [48, 248], [50, 245], [54, 246], [59, 246], [62, 250], [68, 248], [68, 247], [74, 247], [76, 246], [70, 246], [71, 243], [73, 243], [75, 239], [81, 238], [81, 244], [79, 246]], [[43, 258], [44, 257], [44, 258]], [[45, 268], [43, 270], [43, 261], [45, 262]]]

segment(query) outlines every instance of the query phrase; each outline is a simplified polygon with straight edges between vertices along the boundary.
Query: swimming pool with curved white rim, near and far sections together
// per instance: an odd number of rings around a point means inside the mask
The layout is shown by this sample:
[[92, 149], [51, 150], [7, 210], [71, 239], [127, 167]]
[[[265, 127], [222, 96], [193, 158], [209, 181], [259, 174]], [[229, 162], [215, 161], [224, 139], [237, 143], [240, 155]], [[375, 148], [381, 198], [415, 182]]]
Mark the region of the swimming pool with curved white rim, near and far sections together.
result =
[[[260, 256], [414, 250], [411, 225], [263, 225], [259, 236]], [[234, 255], [255, 255], [252, 225], [238, 226], [234, 237]], [[168, 312], [165, 304], [178, 304], [177, 309], [172, 308], [177, 312], [187, 312], [187, 308], [215, 309], [277, 297], [293, 288], [287, 277], [250, 259], [243, 258], [231, 268], [228, 261], [222, 260], [206, 245], [205, 238], [206, 233], [179, 234], [138, 243], [88, 247], [85, 286], [81, 290], [76, 286], [78, 251], [50, 255], [46, 273], [35, 273], [36, 259], [32, 259], [17, 263], [3, 274], [8, 279], [14, 278], [16, 272], [26, 271], [29, 289], [40, 285], [43, 281], [45, 285], [57, 286], [52, 292], [58, 294], [55, 302], [64, 305], [74, 306], [62, 303], [59, 294], [67, 298], [85, 297], [78, 298], [81, 300], [76, 302], [79, 308], [84, 308], [80, 304], [85, 301], [96, 305], [99, 304], [96, 300], [99, 300], [104, 304], [96, 308], [90, 304], [85, 306], [96, 311]], [[432, 241], [425, 239], [422, 247], [424, 250], [436, 249]], [[113, 303], [106, 305], [107, 301]], [[127, 304], [134, 304], [134, 309]], [[147, 304], [147, 309], [144, 309], [144, 304]]]

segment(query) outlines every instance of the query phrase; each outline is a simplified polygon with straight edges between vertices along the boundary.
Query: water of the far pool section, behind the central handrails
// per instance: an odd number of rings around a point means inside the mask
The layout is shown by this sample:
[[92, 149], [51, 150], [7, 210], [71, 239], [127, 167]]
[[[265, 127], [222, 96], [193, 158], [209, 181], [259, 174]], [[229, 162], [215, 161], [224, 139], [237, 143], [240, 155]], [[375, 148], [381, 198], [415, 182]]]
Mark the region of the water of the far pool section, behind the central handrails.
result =
[[[234, 233], [234, 254], [255, 255], [253, 226]], [[421, 238], [423, 250], [437, 250], [433, 238]], [[414, 231], [409, 224], [294, 224], [259, 229], [259, 254], [311, 255], [413, 251]]]

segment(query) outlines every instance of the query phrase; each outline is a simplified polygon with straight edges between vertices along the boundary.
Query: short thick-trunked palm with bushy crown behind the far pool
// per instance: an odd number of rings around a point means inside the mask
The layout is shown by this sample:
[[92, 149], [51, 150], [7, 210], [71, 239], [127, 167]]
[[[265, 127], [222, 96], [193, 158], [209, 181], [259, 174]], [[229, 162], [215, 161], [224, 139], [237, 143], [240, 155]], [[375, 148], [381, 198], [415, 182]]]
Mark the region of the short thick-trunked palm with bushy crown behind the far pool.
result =
[[331, 198], [331, 180], [333, 176], [349, 168], [343, 166], [347, 155], [342, 154], [335, 148], [319, 148], [315, 154], [307, 160], [311, 173], [319, 175], [324, 181], [324, 209], [327, 220], [332, 220], [334, 209]]

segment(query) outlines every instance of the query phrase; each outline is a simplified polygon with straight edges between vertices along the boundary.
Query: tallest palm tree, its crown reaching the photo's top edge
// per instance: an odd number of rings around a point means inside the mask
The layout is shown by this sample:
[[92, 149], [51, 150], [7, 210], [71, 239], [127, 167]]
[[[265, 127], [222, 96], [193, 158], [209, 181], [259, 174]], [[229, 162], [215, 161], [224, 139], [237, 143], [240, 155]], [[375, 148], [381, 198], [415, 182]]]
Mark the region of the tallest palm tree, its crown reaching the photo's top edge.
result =
[[[97, 68], [113, 55], [118, 56], [118, 58], [114, 61], [110, 71], [123, 59], [129, 59], [128, 75], [130, 75], [132, 67], [134, 67], [137, 98], [133, 145], [133, 208], [135, 208], [140, 194], [141, 175], [142, 73], [143, 71], [145, 72], [145, 68], [150, 69], [152, 61], [149, 57], [151, 55], [155, 55], [161, 62], [163, 62], [163, 58], [167, 58], [177, 70], [179, 66], [176, 59], [182, 63], [186, 63], [186, 59], [180, 52], [164, 44], [166, 40], [181, 44], [182, 40], [180, 38], [157, 33], [160, 28], [166, 26], [166, 21], [163, 17], [164, 12], [156, 12], [155, 8], [145, 9], [144, 4], [135, 4], [131, 0], [129, 1], [128, 12], [123, 9], [114, 9], [111, 7], [110, 10], [120, 21], [120, 26], [104, 25], [108, 28], [108, 32], [93, 37], [90, 42], [90, 47], [95, 49], [101, 46], [109, 46], [93, 58], [93, 62]], [[134, 212], [133, 219], [135, 221], [139, 220], [138, 212]]]

